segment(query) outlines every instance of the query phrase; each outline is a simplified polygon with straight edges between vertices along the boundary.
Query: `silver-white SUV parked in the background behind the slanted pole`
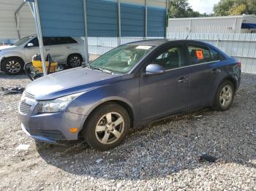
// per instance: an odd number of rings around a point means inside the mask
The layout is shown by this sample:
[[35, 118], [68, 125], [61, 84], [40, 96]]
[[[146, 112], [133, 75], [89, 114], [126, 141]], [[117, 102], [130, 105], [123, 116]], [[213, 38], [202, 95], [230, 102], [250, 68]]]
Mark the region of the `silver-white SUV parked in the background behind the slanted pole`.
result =
[[[53, 61], [75, 68], [84, 58], [83, 39], [73, 37], [43, 37], [45, 54]], [[0, 70], [7, 74], [20, 74], [26, 62], [39, 53], [37, 36], [26, 36], [15, 44], [0, 47]]]

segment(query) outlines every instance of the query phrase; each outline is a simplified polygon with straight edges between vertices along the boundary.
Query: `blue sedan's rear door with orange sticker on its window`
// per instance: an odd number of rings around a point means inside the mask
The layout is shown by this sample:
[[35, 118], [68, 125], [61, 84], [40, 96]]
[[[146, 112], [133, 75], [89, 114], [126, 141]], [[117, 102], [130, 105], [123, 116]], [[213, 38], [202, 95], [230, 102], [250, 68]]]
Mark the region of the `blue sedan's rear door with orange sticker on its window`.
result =
[[219, 52], [203, 44], [187, 44], [189, 54], [189, 108], [206, 106], [214, 98], [221, 69]]

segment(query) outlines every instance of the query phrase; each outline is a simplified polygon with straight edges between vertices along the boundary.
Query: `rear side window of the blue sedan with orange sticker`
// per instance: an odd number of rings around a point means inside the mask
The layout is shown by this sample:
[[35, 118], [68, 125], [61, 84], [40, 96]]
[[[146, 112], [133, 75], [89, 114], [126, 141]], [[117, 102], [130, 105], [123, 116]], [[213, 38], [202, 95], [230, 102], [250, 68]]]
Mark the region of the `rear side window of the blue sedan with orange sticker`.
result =
[[200, 44], [188, 44], [188, 51], [192, 64], [222, 60], [221, 55], [217, 50], [213, 50], [210, 47]]

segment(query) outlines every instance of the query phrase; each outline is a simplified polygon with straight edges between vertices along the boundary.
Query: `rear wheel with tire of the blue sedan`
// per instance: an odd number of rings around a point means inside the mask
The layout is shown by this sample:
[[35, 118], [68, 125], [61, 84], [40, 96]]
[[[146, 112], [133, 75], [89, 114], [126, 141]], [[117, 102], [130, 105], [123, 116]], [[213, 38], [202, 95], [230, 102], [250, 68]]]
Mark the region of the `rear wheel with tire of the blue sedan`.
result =
[[218, 88], [212, 108], [216, 111], [225, 111], [230, 109], [234, 95], [235, 88], [233, 83], [230, 81], [223, 82]]

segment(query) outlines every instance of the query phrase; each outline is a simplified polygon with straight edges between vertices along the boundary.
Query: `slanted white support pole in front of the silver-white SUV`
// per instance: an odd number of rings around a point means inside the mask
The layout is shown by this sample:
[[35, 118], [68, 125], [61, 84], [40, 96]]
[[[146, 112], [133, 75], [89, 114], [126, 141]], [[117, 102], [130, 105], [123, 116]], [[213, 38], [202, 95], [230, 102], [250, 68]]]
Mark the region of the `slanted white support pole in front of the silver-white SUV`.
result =
[[39, 42], [39, 50], [42, 60], [42, 71], [44, 76], [47, 75], [47, 69], [45, 65], [45, 55], [44, 55], [44, 44], [42, 41], [42, 28], [40, 23], [40, 17], [39, 17], [39, 9], [38, 9], [38, 0], [34, 0], [34, 16], [35, 16], [35, 22], [36, 22], [36, 29], [37, 29], [37, 38]]

